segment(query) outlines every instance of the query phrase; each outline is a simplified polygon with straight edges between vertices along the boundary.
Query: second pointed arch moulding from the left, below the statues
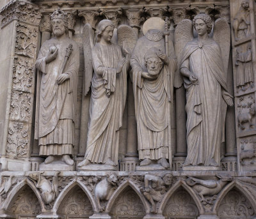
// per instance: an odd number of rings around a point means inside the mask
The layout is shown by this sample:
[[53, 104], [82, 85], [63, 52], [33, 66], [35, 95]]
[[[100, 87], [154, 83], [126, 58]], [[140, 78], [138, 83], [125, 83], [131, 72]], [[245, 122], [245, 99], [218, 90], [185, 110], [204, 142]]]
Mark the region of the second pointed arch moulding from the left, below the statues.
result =
[[98, 211], [98, 207], [95, 203], [95, 200], [93, 199], [93, 195], [90, 192], [90, 190], [88, 190], [88, 188], [79, 179], [74, 179], [73, 181], [68, 183], [68, 185], [65, 188], [63, 188], [60, 195], [55, 200], [54, 206], [52, 207], [52, 211], [54, 213], [56, 213], [58, 211], [58, 208], [60, 207], [60, 204], [61, 204], [62, 200], [65, 199], [68, 192], [70, 192], [70, 190], [72, 190], [72, 188], [74, 188], [75, 186], [79, 186], [79, 188], [81, 188], [83, 190], [85, 195], [90, 200], [90, 203], [92, 204], [93, 211]]

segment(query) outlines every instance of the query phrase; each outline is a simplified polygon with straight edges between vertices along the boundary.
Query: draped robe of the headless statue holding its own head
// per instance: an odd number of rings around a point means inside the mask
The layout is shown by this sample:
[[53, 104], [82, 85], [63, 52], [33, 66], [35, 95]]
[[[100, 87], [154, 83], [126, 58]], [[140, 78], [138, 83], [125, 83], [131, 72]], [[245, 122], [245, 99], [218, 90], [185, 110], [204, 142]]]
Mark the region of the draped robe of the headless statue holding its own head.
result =
[[[131, 57], [139, 159], [166, 158], [172, 162], [170, 117], [177, 65], [175, 59], [170, 58], [168, 64], [163, 65], [157, 79], [144, 79], [141, 76], [142, 72], [147, 72], [144, 56], [152, 47], [165, 52], [164, 39], [156, 42], [143, 36], [136, 43]], [[174, 56], [172, 42], [169, 42], [169, 51]]]

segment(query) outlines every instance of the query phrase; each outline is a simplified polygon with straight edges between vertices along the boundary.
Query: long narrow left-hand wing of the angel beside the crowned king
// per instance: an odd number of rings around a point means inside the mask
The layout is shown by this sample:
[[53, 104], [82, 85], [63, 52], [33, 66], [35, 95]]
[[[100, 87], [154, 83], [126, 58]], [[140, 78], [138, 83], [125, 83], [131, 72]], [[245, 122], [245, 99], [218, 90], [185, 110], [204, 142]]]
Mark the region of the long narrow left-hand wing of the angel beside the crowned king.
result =
[[84, 96], [90, 90], [93, 66], [92, 66], [92, 47], [94, 46], [94, 31], [90, 24], [85, 24], [83, 27], [83, 49], [84, 49]]

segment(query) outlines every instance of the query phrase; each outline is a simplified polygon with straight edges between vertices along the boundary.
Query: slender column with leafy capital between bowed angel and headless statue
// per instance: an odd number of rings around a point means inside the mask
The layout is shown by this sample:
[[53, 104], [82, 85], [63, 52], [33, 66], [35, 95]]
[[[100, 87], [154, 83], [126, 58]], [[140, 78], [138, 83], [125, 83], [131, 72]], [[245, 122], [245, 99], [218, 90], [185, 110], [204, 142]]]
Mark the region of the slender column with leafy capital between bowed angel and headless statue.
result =
[[[144, 20], [141, 17], [143, 9], [127, 9], [125, 10], [129, 26], [135, 31], [138, 36], [140, 30], [140, 23]], [[130, 73], [130, 80], [128, 79], [128, 118], [127, 118], [127, 153], [122, 159], [120, 170], [134, 171], [136, 166], [140, 163], [138, 159], [138, 145], [137, 145], [137, 125], [134, 108], [134, 94], [132, 88], [132, 73]]]

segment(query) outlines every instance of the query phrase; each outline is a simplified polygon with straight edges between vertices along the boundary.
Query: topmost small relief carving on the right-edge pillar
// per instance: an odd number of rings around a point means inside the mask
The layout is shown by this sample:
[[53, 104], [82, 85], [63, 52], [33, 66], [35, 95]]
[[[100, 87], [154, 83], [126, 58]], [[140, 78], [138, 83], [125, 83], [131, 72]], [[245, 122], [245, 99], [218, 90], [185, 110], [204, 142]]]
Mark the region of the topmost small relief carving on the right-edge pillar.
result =
[[250, 35], [250, 10], [248, 0], [241, 3], [241, 7], [234, 17], [232, 26], [236, 41], [242, 40], [246, 36]]

